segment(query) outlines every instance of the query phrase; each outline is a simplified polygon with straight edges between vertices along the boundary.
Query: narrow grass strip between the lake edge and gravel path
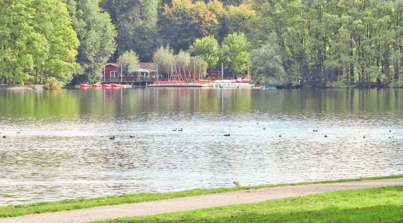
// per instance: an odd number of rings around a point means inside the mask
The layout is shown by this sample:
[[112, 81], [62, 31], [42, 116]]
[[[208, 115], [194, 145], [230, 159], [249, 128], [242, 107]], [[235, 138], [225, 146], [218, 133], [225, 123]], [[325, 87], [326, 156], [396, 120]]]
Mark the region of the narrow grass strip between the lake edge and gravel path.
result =
[[285, 185], [303, 185], [303, 184], [319, 184], [319, 183], [336, 183], [346, 181], [360, 181], [360, 180], [372, 180], [372, 179], [386, 179], [386, 178], [403, 178], [403, 175], [383, 176], [383, 177], [367, 177], [356, 179], [342, 179], [333, 181], [319, 181], [319, 182], [306, 182], [295, 184], [276, 184], [276, 185], [262, 185], [251, 187], [233, 187], [233, 188], [218, 188], [218, 189], [195, 189], [191, 191], [180, 192], [168, 192], [168, 193], [136, 193], [125, 194], [121, 196], [106, 196], [92, 199], [74, 199], [58, 202], [40, 202], [26, 205], [9, 205], [0, 206], [0, 218], [15, 217], [20, 215], [27, 215], [33, 213], [45, 213], [56, 212], [64, 210], [75, 210], [89, 207], [107, 206], [107, 205], [119, 205], [145, 201], [163, 200], [176, 197], [186, 197], [201, 194], [220, 193], [228, 191], [240, 191], [248, 189], [259, 189], [268, 187], [279, 187]]

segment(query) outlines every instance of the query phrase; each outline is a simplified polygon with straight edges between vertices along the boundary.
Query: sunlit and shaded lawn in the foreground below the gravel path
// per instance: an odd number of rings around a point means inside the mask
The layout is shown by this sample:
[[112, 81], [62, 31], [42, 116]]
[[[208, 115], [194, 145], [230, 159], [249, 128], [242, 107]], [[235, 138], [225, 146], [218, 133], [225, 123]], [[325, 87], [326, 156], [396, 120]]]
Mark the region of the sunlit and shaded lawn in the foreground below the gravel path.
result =
[[403, 222], [403, 186], [338, 191], [97, 223]]

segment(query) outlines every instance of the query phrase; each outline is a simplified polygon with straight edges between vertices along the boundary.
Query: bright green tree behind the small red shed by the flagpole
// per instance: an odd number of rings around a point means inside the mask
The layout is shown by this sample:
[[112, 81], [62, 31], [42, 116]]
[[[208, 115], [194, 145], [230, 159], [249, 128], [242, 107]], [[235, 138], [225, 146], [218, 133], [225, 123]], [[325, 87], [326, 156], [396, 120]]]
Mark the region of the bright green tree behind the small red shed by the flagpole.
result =
[[242, 74], [249, 70], [250, 44], [243, 33], [236, 32], [224, 38], [220, 50], [220, 62], [224, 63], [227, 71]]

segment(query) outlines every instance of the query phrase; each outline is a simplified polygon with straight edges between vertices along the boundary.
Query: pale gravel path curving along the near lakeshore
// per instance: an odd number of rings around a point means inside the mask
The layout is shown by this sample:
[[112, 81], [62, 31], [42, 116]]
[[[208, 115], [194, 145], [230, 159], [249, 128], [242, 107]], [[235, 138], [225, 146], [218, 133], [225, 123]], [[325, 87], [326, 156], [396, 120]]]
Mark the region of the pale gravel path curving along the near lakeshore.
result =
[[352, 181], [328, 184], [283, 186], [246, 191], [233, 191], [167, 200], [141, 202], [115, 206], [92, 207], [53, 213], [31, 214], [13, 218], [0, 218], [0, 223], [84, 223], [88, 221], [153, 215], [206, 207], [256, 203], [313, 193], [359, 190], [403, 185], [403, 178]]

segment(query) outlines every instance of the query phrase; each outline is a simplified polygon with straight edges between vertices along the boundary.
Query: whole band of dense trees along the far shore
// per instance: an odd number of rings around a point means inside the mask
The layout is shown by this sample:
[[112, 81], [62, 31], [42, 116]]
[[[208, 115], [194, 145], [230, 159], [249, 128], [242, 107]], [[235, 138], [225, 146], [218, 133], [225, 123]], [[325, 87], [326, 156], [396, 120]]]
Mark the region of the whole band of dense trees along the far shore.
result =
[[3, 0], [0, 80], [200, 61], [258, 85], [402, 87], [403, 0]]

